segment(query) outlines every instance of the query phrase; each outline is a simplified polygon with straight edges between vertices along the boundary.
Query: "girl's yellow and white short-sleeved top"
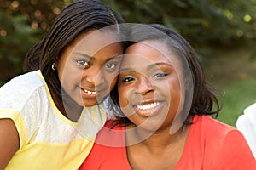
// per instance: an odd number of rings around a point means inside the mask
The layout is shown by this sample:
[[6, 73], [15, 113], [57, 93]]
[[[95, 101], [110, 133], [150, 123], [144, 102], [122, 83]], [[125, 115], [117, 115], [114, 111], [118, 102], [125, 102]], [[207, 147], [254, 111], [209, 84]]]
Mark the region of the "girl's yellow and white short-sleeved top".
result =
[[0, 119], [10, 118], [20, 149], [6, 169], [78, 169], [107, 119], [105, 100], [84, 107], [78, 122], [56, 108], [40, 71], [15, 77], [0, 88]]

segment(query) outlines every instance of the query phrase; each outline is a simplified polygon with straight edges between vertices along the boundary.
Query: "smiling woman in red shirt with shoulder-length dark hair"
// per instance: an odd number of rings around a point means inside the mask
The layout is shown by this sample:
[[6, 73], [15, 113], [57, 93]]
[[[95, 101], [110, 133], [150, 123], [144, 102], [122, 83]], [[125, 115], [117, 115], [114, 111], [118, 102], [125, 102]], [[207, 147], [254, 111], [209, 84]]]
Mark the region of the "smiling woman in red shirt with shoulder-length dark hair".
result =
[[128, 41], [112, 93], [123, 115], [80, 169], [256, 169], [242, 134], [212, 118], [218, 99], [189, 43], [160, 25], [131, 26]]

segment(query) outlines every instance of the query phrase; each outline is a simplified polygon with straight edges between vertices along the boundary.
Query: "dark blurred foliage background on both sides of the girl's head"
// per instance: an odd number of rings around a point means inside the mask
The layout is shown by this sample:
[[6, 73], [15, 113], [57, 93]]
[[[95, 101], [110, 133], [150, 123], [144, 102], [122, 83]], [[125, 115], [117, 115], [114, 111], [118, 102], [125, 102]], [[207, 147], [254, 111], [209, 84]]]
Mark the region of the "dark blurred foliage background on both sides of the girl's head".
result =
[[[71, 2], [73, 0], [0, 1], [0, 84], [21, 72], [28, 48], [38, 42], [56, 14]], [[253, 42], [256, 37], [256, 0], [102, 2], [114, 8], [126, 22], [160, 23], [172, 27], [200, 54], [215, 47], [236, 48], [245, 42]], [[256, 48], [253, 49], [256, 53]]]

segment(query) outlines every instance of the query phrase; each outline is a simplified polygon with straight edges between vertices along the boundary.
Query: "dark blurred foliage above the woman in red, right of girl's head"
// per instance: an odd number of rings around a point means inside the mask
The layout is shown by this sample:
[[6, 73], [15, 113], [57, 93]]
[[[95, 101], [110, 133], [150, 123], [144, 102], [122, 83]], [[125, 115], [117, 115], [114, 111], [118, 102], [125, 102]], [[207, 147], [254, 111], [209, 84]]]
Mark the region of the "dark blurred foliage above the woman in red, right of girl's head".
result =
[[[256, 37], [255, 0], [102, 0], [126, 22], [160, 23], [196, 46], [231, 48]], [[241, 45], [241, 44], [240, 44]]]

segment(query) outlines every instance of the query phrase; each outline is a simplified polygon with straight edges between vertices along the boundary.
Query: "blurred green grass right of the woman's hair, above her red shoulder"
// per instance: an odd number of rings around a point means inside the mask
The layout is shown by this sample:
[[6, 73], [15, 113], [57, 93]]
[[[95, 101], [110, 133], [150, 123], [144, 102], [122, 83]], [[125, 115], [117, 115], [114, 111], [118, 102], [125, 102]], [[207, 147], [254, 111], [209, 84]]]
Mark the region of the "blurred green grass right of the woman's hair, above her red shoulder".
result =
[[236, 126], [243, 110], [256, 102], [256, 60], [250, 48], [216, 50], [204, 59], [207, 78], [220, 91], [218, 120]]

